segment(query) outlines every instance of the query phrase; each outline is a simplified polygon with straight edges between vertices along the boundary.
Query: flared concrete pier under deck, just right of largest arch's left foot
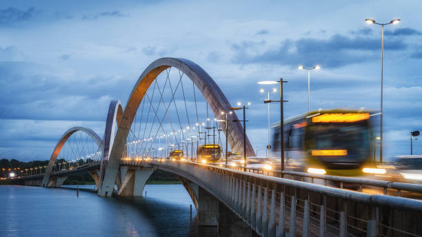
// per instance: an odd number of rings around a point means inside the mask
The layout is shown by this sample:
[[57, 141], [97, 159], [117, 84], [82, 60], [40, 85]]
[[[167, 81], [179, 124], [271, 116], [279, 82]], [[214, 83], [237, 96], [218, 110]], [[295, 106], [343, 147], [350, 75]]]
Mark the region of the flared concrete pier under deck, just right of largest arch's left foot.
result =
[[143, 187], [154, 169], [141, 167], [121, 167], [122, 182], [118, 196], [142, 196]]

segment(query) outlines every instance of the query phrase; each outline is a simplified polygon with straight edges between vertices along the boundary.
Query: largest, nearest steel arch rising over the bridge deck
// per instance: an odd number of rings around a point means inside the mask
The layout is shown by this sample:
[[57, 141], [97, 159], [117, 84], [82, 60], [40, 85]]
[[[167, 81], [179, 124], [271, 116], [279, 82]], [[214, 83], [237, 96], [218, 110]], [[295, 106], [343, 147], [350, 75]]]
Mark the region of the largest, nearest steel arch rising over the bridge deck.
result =
[[[139, 76], [137, 83], [135, 83], [133, 90], [130, 93], [114, 140], [106, 175], [102, 182], [104, 185], [101, 185], [99, 189], [100, 196], [111, 196], [112, 187], [114, 187], [114, 179], [117, 174], [117, 169], [119, 168], [120, 156], [123, 152], [123, 145], [128, 137], [130, 126], [132, 125], [132, 121], [143, 96], [157, 76], [170, 67], [181, 70], [181, 72], [193, 81], [201, 91], [201, 94], [203, 94], [208, 101], [208, 104], [215, 115], [218, 116], [222, 111], [228, 112], [229, 108], [232, 107], [225, 98], [223, 92], [221, 92], [217, 83], [215, 83], [211, 76], [196, 63], [188, 59], [176, 58], [162, 58], [152, 62], [148, 68], [143, 71], [141, 76]], [[234, 120], [238, 118], [237, 115], [233, 113], [228, 114], [228, 119]], [[220, 122], [220, 125], [225, 130], [225, 123]], [[243, 154], [243, 127], [239, 122], [232, 123], [230, 127], [229, 134], [225, 134], [225, 136], [228, 137], [228, 143], [230, 144], [230, 147], [232, 147], [232, 150], [236, 150]], [[246, 147], [248, 156], [254, 156], [254, 150], [248, 138], [246, 138]]]

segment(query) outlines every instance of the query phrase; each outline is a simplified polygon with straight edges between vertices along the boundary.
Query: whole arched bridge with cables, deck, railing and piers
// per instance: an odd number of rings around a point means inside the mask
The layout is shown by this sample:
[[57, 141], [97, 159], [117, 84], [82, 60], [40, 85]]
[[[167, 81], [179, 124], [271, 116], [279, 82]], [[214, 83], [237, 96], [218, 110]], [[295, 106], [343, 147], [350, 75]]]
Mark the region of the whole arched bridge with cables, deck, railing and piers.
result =
[[[171, 76], [175, 77], [171, 79]], [[186, 77], [192, 84], [183, 82]], [[191, 86], [191, 93], [187, 92], [187, 85]], [[178, 89], [183, 99], [177, 99]], [[205, 101], [197, 101], [197, 91]], [[170, 99], [165, 101], [165, 96]], [[188, 96], [193, 96], [194, 104], [188, 105]], [[214, 119], [210, 118], [208, 108]], [[183, 182], [197, 209], [200, 233], [214, 236], [422, 235], [419, 225], [422, 202], [404, 197], [405, 194], [422, 194], [421, 185], [271, 172], [199, 161], [194, 147], [201, 141], [206, 144], [207, 139], [212, 139], [212, 144], [223, 146], [221, 137], [215, 134], [216, 129], [218, 134], [223, 132], [232, 151], [255, 156], [248, 137], [243, 135], [239, 118], [230, 113], [230, 108], [232, 105], [218, 85], [199, 65], [187, 59], [158, 59], [139, 76], [124, 110], [119, 101], [110, 102], [102, 138], [88, 128], [72, 127], [59, 138], [46, 167], [40, 167], [35, 174], [32, 170], [29, 174], [21, 170], [12, 181], [21, 185], [60, 187], [68, 176], [88, 173], [101, 197], [142, 196], [152, 172], [162, 169], [176, 174]], [[185, 121], [181, 119], [183, 114]], [[200, 116], [206, 120], [201, 122]], [[165, 118], [168, 123], [163, 123]], [[162, 147], [161, 138], [167, 147]], [[168, 151], [175, 147], [185, 151], [185, 158], [180, 161], [166, 158]], [[350, 185], [356, 188], [347, 189]], [[379, 189], [381, 194], [368, 194], [364, 192], [365, 187]]]

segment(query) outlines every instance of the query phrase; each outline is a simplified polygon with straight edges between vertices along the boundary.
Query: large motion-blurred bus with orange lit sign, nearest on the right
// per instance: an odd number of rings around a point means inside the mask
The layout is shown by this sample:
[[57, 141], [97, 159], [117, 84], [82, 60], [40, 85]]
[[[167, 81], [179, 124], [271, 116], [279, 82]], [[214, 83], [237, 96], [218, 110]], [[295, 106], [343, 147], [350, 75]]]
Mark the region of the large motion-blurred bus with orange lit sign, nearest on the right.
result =
[[[334, 176], [363, 174], [363, 167], [372, 163], [374, 148], [369, 118], [368, 111], [319, 110], [285, 119], [285, 169]], [[272, 151], [279, 154], [280, 122], [272, 130]], [[274, 159], [280, 164], [280, 158]]]

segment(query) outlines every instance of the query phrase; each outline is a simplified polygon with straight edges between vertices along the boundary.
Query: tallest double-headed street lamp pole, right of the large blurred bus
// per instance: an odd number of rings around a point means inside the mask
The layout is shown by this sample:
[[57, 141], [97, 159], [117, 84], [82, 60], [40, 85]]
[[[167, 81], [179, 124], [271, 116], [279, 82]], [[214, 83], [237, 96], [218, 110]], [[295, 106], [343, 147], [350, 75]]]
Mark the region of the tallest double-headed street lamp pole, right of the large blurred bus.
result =
[[394, 19], [389, 23], [378, 23], [372, 19], [365, 19], [368, 24], [381, 25], [381, 114], [380, 114], [380, 123], [379, 123], [379, 161], [383, 162], [383, 74], [384, 74], [384, 25], [398, 24], [401, 20]]

